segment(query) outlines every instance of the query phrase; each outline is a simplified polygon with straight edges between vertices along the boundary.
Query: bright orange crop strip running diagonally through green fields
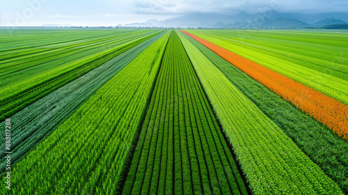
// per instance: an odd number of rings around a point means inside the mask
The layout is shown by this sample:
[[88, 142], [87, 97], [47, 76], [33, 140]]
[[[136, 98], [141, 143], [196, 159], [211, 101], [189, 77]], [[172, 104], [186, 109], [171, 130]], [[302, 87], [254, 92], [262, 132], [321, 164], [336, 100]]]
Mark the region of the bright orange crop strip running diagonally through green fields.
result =
[[235, 67], [242, 70], [246, 75], [280, 95], [284, 100], [292, 102], [299, 109], [302, 109], [307, 114], [310, 114], [310, 116], [324, 123], [340, 136], [348, 139], [348, 106], [346, 104], [342, 104], [334, 98], [315, 91], [313, 88], [304, 86], [293, 79], [245, 59], [203, 38], [194, 36], [186, 31], [182, 32], [205, 45], [205, 47], [232, 65], [235, 65]]

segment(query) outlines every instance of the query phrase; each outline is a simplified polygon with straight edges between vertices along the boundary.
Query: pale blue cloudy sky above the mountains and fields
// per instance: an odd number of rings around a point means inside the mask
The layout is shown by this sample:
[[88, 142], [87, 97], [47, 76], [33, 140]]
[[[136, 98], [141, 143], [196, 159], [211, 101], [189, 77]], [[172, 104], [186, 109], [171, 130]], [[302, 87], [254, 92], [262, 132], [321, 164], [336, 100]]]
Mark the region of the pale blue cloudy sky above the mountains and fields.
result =
[[347, 12], [348, 0], [0, 0], [0, 26], [116, 26], [187, 13]]

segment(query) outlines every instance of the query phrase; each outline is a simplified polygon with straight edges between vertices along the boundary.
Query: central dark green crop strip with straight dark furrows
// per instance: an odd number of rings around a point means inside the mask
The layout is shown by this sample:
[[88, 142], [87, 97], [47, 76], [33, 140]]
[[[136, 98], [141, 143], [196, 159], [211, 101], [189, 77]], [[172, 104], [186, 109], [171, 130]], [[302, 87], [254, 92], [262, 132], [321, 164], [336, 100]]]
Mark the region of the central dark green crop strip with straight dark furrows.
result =
[[122, 194], [248, 194], [175, 31]]

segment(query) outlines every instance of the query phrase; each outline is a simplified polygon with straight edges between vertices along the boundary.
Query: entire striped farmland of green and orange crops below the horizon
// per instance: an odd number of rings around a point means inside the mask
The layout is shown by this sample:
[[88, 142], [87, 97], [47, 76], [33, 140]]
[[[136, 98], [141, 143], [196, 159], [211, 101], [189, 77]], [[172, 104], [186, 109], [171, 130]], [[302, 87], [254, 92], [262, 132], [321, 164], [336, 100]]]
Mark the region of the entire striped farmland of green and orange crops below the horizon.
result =
[[0, 192], [348, 194], [347, 42], [0, 29]]

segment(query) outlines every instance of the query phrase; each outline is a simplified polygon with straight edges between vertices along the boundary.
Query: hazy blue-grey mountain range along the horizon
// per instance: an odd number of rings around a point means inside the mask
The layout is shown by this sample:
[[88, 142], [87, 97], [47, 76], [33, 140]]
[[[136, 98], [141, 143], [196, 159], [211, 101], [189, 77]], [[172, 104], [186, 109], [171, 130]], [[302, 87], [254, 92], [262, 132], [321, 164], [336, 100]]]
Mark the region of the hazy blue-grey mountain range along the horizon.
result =
[[237, 15], [219, 13], [191, 13], [167, 20], [147, 20], [141, 23], [124, 26], [173, 26], [173, 27], [206, 27], [206, 28], [245, 28], [245, 27], [321, 27], [331, 24], [348, 24], [348, 13], [279, 13], [276, 10], [249, 14], [244, 11]]

